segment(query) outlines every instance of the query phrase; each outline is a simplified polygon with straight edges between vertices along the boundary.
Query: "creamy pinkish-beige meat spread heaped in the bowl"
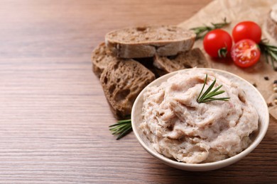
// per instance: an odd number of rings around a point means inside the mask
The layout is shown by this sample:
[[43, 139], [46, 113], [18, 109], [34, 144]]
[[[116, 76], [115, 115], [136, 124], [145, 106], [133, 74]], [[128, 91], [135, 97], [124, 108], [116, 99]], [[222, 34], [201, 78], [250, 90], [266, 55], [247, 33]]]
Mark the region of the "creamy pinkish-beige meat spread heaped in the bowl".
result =
[[[214, 100], [197, 103], [216, 78], [214, 88], [225, 93]], [[258, 114], [244, 91], [212, 71], [186, 71], [144, 93], [143, 122], [139, 126], [158, 153], [185, 163], [207, 163], [239, 154], [251, 144], [258, 130]]]

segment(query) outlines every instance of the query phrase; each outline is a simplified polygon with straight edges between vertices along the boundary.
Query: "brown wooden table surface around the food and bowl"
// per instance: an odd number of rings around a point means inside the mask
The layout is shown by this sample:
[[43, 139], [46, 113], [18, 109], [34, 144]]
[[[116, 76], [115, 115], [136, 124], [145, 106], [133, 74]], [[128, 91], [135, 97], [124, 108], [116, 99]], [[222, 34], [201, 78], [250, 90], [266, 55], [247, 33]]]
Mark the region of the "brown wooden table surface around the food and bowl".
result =
[[178, 24], [210, 0], [0, 1], [0, 183], [277, 182], [277, 125], [244, 159], [188, 172], [153, 159], [116, 121], [91, 71], [109, 30]]

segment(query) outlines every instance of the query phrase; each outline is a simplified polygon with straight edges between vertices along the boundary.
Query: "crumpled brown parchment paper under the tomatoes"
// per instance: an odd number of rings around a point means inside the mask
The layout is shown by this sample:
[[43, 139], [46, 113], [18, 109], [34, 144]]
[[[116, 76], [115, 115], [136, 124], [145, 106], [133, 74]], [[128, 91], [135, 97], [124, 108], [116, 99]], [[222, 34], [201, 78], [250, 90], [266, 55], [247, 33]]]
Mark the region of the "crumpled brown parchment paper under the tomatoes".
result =
[[[195, 16], [180, 23], [179, 26], [190, 29], [201, 25], [210, 25], [210, 23], [219, 23], [226, 17], [227, 21], [231, 21], [231, 23], [223, 29], [232, 34], [232, 28], [237, 23], [254, 21], [261, 25], [263, 30], [262, 38], [267, 38], [271, 44], [276, 45], [277, 42], [266, 33], [265, 25], [266, 18], [273, 4], [277, 4], [277, 0], [214, 0], [198, 11]], [[202, 47], [202, 40], [197, 40], [194, 47], [200, 47], [205, 53]], [[212, 68], [232, 72], [246, 79], [251, 84], [256, 84], [256, 88], [264, 96], [266, 102], [273, 104], [268, 110], [275, 117], [275, 122], [277, 122], [277, 105], [273, 102], [277, 96], [277, 93], [273, 92], [273, 81], [277, 80], [277, 71], [273, 71], [271, 65], [266, 63], [263, 56], [254, 67], [247, 69], [235, 66], [230, 59], [225, 61], [212, 59], [207, 54], [206, 57]], [[268, 81], [264, 79], [265, 76], [268, 76]]]

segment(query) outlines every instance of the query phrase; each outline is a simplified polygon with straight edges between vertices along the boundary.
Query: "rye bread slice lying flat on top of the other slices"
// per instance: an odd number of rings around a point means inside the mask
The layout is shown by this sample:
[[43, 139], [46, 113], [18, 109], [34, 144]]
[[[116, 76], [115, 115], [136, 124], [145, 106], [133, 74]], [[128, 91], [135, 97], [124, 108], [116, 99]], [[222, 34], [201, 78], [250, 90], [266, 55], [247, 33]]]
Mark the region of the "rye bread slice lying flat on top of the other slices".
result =
[[190, 50], [195, 33], [175, 25], [124, 28], [107, 33], [105, 42], [116, 57], [170, 56]]

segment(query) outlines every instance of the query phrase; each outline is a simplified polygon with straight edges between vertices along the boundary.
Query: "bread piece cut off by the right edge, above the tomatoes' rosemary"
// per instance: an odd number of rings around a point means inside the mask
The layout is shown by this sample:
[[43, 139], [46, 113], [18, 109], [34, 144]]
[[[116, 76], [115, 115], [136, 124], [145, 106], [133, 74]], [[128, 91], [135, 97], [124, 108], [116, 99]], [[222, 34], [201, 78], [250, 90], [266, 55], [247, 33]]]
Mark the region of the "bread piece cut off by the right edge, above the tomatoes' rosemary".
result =
[[266, 18], [266, 30], [272, 38], [277, 40], [277, 6], [273, 6], [273, 9], [268, 13]]

